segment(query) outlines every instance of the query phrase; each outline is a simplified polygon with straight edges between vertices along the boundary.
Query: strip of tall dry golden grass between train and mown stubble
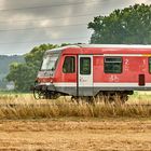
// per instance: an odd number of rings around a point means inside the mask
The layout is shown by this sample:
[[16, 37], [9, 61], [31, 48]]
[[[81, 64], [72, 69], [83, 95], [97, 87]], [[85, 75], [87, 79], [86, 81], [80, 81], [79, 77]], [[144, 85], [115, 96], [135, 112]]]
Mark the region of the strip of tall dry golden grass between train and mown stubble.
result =
[[[147, 96], [145, 95], [145, 98]], [[137, 98], [137, 99], [136, 99]], [[141, 101], [136, 94], [126, 105], [105, 105], [101, 101], [87, 104], [71, 102], [68, 98], [59, 100], [35, 100], [30, 95], [4, 95], [0, 97], [0, 119], [50, 119], [61, 116], [82, 118], [150, 118], [151, 101]], [[135, 99], [135, 100], [134, 100]], [[136, 104], [137, 102], [137, 104]]]

